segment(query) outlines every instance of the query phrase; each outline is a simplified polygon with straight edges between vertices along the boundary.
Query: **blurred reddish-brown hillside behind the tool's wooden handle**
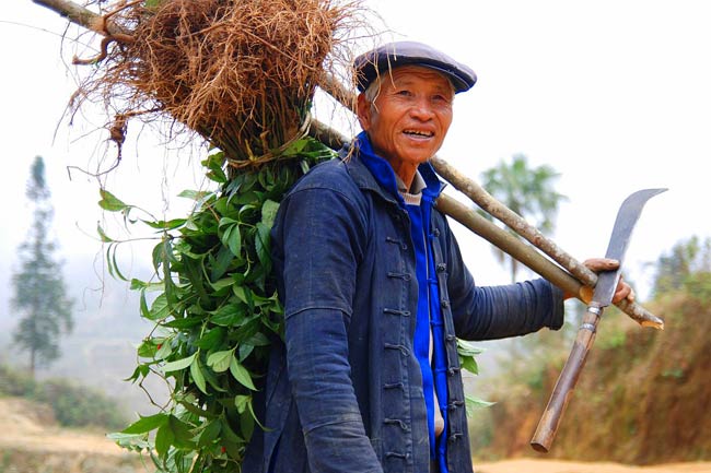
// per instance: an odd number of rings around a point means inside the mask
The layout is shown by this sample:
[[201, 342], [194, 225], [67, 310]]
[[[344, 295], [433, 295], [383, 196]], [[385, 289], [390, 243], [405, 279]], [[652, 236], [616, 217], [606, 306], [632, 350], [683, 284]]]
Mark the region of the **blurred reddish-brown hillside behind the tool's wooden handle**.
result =
[[[711, 460], [708, 293], [649, 305], [665, 317], [664, 331], [640, 329], [609, 311], [545, 458], [631, 464]], [[512, 389], [513, 398], [501, 394], [504, 400], [491, 409], [496, 427], [483, 457], [541, 458], [528, 442], [563, 362], [545, 367], [540, 386]]]

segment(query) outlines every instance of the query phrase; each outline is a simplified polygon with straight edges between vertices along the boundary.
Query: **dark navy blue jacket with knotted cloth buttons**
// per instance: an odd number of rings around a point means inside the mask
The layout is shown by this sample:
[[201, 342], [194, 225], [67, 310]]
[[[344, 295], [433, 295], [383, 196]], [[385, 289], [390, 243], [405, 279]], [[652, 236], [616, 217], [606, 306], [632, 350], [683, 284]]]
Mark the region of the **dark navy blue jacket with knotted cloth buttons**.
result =
[[[429, 166], [424, 164], [423, 166]], [[562, 326], [543, 280], [478, 287], [432, 212], [447, 358], [447, 465], [471, 472], [456, 338]], [[418, 286], [407, 212], [356, 154], [316, 166], [284, 197], [272, 253], [284, 304], [244, 473], [427, 473], [430, 447], [412, 354]]]

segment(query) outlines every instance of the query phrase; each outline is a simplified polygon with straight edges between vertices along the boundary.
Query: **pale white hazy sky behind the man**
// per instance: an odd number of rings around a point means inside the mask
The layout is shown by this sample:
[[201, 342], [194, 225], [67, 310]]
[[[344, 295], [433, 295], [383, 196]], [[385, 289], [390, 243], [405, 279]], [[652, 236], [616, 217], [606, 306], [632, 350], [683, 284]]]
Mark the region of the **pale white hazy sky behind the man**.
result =
[[[555, 239], [563, 249], [581, 260], [602, 256], [623, 198], [652, 187], [669, 191], [650, 201], [642, 214], [628, 253], [631, 280], [643, 287], [650, 275], [645, 262], [681, 239], [711, 236], [706, 209], [711, 202], [711, 2], [370, 4], [399, 33], [395, 38], [430, 43], [478, 74], [476, 86], [457, 96], [442, 157], [474, 179], [515, 153], [562, 174], [558, 190], [569, 200]], [[59, 37], [65, 24], [30, 0], [13, 0], [0, 11], [2, 291], [28, 224], [24, 184], [37, 154], [48, 165], [61, 256], [71, 265], [83, 261], [78, 256], [101, 252], [93, 236], [103, 218], [97, 186], [75, 170], [70, 180], [67, 166], [95, 166], [105, 146], [92, 130], [103, 119], [79, 116], [70, 131], [66, 121], [58, 125], [75, 86], [61, 59], [71, 56], [67, 45], [62, 52]], [[138, 127], [131, 132], [138, 137]], [[183, 216], [186, 208], [173, 196], [200, 185], [199, 173], [191, 170], [197, 157], [165, 153], [149, 131], [139, 143], [126, 146], [109, 189], [126, 201]], [[488, 245], [467, 230], [457, 233], [478, 282], [505, 282]]]

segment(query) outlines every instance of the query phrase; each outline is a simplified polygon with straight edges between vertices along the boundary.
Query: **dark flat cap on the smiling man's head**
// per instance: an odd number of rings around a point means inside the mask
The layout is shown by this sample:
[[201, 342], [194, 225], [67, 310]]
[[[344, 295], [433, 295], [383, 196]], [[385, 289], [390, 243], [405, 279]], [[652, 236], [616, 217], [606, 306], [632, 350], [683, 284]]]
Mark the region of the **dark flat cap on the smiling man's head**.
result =
[[471, 88], [477, 74], [466, 64], [422, 43], [396, 42], [360, 55], [353, 61], [358, 90], [363, 92], [383, 71], [400, 66], [422, 66], [446, 75], [456, 93]]

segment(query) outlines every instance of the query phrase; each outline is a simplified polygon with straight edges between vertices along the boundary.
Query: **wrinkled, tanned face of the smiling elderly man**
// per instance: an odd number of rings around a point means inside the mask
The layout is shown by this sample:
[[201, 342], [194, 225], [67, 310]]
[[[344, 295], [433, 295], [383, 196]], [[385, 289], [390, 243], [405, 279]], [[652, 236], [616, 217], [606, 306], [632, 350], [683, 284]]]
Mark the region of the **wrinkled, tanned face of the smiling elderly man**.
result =
[[383, 76], [372, 104], [365, 94], [358, 97], [358, 117], [374, 151], [397, 169], [426, 162], [442, 146], [453, 100], [454, 90], [443, 74], [404, 66]]

